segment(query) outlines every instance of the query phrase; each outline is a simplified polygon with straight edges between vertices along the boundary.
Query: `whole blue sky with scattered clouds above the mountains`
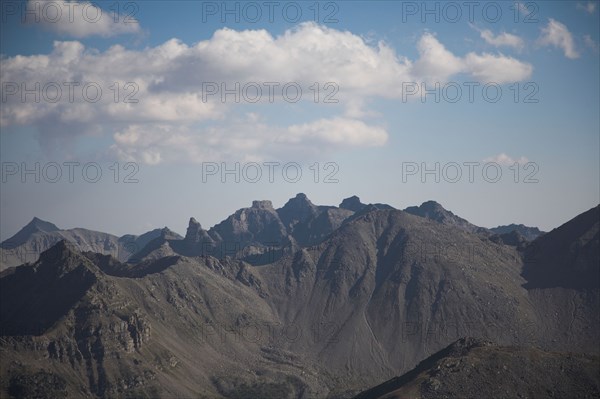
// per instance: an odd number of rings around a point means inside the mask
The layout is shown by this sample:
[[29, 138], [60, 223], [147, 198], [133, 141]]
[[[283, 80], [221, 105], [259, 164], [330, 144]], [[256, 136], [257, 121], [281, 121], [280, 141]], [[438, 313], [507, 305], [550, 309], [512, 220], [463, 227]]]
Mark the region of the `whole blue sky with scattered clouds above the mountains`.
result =
[[598, 2], [0, 4], [0, 239], [298, 192], [543, 230], [600, 202]]

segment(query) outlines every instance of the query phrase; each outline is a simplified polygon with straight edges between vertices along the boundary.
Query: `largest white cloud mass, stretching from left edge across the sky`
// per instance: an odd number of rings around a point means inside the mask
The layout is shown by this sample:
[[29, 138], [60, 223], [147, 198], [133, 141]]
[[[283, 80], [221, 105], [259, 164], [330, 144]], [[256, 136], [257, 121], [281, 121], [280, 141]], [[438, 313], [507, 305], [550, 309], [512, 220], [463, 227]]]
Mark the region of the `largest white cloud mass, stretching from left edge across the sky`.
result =
[[[114, 45], [100, 52], [78, 41], [57, 41], [48, 54], [0, 60], [0, 125], [67, 132], [61, 136], [100, 130], [113, 137], [114, 153], [146, 163], [259, 158], [315, 146], [333, 151], [382, 145], [388, 134], [361, 120], [377, 118], [364, 108], [371, 99], [402, 98], [404, 82], [443, 84], [466, 74], [508, 83], [532, 73], [530, 64], [502, 54], [455, 55], [431, 33], [422, 35], [417, 49], [418, 58], [411, 60], [384, 42], [371, 45], [315, 23], [279, 36], [224, 28], [193, 45], [171, 39], [142, 50]], [[298, 103], [286, 98], [283, 89], [290, 82], [292, 93], [301, 90]], [[37, 95], [31, 93], [36, 87]], [[236, 93], [223, 97], [223, 89]], [[60, 101], [52, 101], [58, 90]], [[257, 103], [250, 104], [249, 97]], [[335, 101], [324, 104], [327, 99]], [[260, 117], [263, 105], [318, 107], [319, 116], [271, 126]], [[248, 107], [255, 107], [255, 116], [236, 121]]]

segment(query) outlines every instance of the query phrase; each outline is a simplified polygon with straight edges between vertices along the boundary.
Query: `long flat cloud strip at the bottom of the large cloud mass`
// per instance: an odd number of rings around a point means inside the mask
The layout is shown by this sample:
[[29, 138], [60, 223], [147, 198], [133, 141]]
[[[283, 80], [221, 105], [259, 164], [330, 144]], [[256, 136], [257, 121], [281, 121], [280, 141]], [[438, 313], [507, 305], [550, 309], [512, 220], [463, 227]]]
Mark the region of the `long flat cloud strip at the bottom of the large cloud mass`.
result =
[[341, 117], [287, 127], [269, 126], [250, 113], [228, 126], [132, 125], [113, 137], [111, 151], [119, 159], [158, 164], [182, 159], [248, 162], [322, 156], [340, 147], [382, 146], [387, 142], [388, 133], [382, 127]]

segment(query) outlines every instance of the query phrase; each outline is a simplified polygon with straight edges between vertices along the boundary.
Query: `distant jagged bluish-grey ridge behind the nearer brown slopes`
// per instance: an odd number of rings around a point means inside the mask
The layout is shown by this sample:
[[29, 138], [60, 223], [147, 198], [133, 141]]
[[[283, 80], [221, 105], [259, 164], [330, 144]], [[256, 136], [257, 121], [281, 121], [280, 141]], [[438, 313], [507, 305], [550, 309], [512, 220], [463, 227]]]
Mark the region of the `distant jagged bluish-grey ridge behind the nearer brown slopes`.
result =
[[[35, 262], [43, 251], [63, 239], [83, 252], [112, 255], [122, 262], [135, 262], [158, 251], [154, 256], [175, 253], [231, 255], [251, 264], [265, 263], [283, 252], [317, 244], [344, 222], [378, 209], [395, 208], [387, 204], [364, 204], [357, 196], [344, 199], [339, 207], [314, 205], [305, 194], [299, 193], [279, 209], [273, 208], [271, 201], [253, 201], [251, 207], [239, 209], [209, 230], [204, 230], [191, 217], [185, 237], [167, 227], [139, 236], [126, 234], [122, 237], [83, 228], [63, 230], [34, 217], [15, 235], [0, 243], [0, 270]], [[492, 229], [478, 227], [435, 201], [404, 211], [468, 232], [493, 236], [497, 241], [515, 246], [522, 246], [543, 234], [535, 227], [515, 224]]]

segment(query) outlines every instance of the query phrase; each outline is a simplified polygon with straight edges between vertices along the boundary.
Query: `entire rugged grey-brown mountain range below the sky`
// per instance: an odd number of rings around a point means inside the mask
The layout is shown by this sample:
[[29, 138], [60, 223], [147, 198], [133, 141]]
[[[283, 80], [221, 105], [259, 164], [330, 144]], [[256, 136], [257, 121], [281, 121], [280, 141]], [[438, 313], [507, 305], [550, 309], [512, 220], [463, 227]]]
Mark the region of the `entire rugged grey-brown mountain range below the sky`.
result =
[[34, 219], [10, 250], [48, 248], [0, 274], [0, 395], [595, 395], [599, 210], [510, 244], [433, 202], [298, 194], [129, 262]]

